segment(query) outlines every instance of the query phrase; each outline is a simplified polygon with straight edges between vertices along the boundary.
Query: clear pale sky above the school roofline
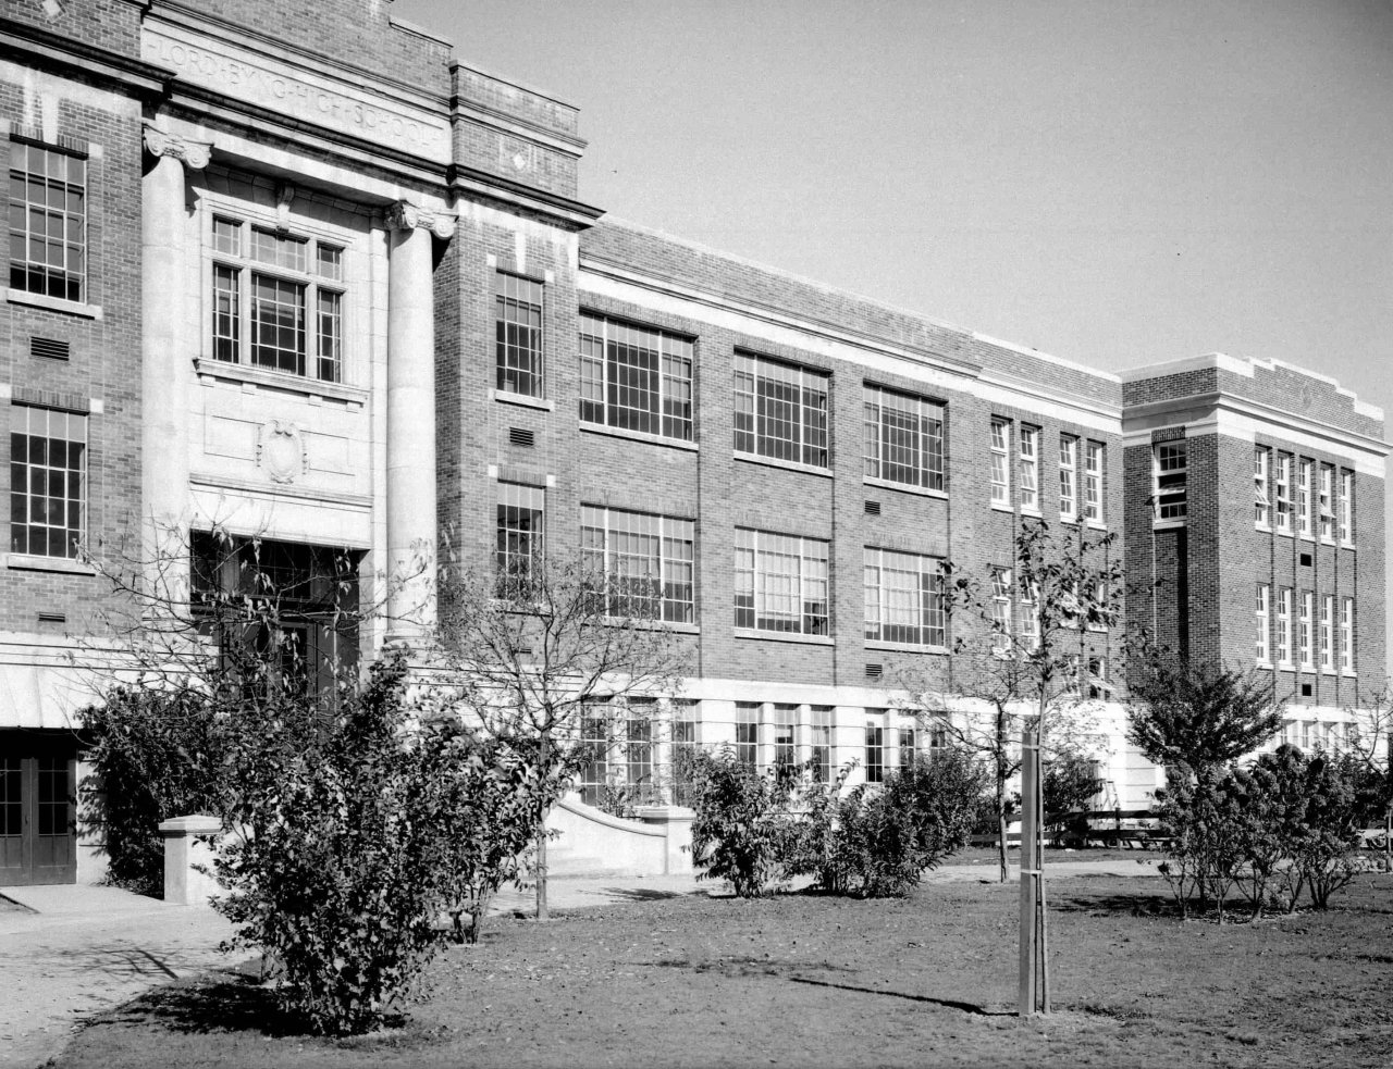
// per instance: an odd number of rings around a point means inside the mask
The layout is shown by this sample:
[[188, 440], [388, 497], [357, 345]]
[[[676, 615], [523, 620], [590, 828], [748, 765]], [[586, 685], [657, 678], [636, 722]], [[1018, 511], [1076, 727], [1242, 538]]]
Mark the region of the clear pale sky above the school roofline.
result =
[[1290, 361], [1393, 416], [1393, 0], [393, 11], [578, 106], [614, 216], [1112, 370]]

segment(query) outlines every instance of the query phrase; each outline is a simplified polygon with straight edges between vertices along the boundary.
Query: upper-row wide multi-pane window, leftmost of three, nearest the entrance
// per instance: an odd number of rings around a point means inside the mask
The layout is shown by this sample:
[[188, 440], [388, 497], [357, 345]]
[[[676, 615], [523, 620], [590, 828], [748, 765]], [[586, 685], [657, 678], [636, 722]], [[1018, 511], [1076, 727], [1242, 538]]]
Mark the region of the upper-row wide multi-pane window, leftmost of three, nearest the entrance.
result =
[[691, 441], [691, 340], [582, 312], [581, 422]]

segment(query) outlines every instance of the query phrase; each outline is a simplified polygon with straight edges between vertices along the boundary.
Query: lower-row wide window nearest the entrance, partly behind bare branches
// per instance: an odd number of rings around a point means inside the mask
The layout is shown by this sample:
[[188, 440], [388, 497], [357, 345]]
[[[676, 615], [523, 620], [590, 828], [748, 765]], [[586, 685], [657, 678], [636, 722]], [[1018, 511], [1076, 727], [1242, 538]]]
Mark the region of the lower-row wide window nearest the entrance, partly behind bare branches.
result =
[[695, 621], [690, 519], [581, 505], [581, 554], [592, 579], [605, 576], [613, 617]]

